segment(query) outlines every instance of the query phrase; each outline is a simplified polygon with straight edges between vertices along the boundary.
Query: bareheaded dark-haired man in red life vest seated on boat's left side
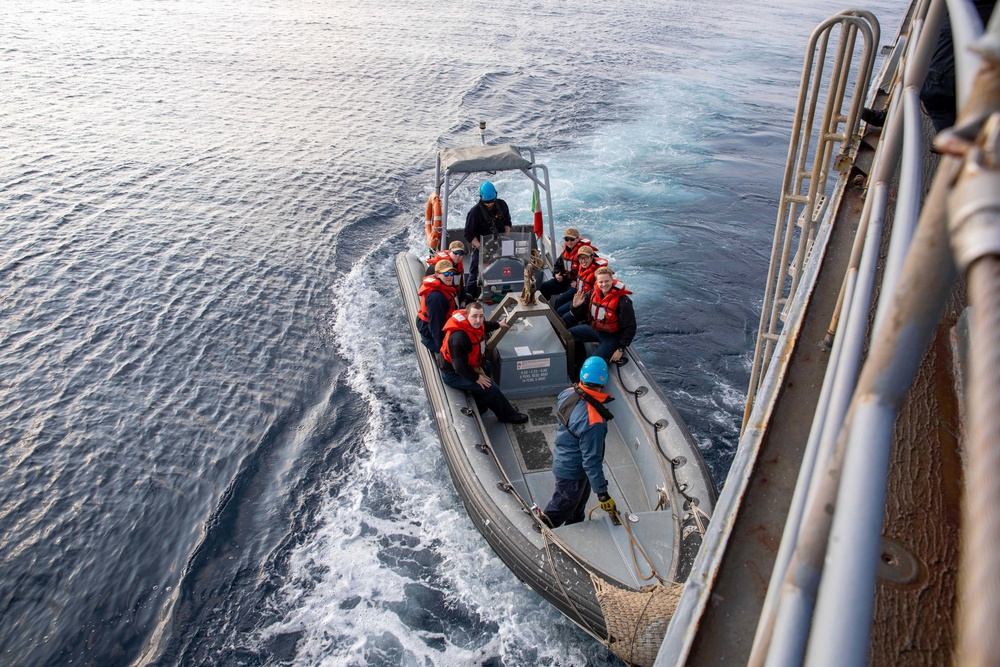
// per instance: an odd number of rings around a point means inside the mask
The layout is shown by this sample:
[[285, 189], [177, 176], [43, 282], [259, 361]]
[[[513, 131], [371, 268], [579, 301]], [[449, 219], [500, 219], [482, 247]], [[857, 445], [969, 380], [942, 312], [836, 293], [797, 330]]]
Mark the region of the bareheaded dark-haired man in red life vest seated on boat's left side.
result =
[[492, 410], [501, 422], [524, 424], [528, 415], [510, 404], [485, 370], [486, 334], [506, 326], [506, 319], [487, 322], [483, 304], [478, 301], [452, 313], [444, 325], [441, 379], [449, 387], [470, 392], [480, 413]]

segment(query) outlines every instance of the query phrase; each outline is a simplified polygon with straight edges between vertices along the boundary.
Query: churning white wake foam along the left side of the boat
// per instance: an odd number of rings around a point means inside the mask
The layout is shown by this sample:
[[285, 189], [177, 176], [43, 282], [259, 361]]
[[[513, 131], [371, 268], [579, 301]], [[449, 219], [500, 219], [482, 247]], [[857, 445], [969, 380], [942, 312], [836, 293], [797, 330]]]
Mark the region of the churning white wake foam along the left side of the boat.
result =
[[366, 455], [294, 552], [283, 619], [261, 641], [299, 633], [302, 665], [603, 664], [584, 655], [603, 655], [599, 647], [523, 587], [465, 514], [400, 312], [393, 254], [377, 249], [335, 289], [353, 295], [337, 299], [331, 325], [347, 382], [370, 410]]

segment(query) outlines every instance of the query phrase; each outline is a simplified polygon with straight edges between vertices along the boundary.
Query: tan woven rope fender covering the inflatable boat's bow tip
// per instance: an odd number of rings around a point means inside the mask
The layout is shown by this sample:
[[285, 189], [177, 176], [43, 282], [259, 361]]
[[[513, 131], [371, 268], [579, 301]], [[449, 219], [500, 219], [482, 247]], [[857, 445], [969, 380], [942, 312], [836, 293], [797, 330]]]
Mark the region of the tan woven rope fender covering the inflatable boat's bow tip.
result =
[[651, 667], [656, 662], [670, 618], [684, 592], [684, 584], [666, 582], [638, 591], [612, 586], [590, 575], [597, 602], [604, 612], [608, 648], [630, 665]]

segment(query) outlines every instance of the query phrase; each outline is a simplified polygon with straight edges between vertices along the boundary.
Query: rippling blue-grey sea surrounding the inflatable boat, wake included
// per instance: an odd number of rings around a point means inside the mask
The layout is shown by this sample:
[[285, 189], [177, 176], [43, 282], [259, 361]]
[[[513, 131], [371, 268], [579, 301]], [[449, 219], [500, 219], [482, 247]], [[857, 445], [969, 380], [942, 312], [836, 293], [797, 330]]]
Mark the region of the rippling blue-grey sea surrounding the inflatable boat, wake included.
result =
[[5, 0], [0, 663], [617, 664], [465, 515], [392, 258], [437, 149], [534, 146], [721, 485], [842, 8]]

